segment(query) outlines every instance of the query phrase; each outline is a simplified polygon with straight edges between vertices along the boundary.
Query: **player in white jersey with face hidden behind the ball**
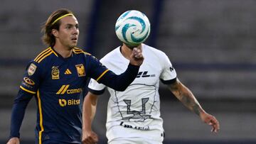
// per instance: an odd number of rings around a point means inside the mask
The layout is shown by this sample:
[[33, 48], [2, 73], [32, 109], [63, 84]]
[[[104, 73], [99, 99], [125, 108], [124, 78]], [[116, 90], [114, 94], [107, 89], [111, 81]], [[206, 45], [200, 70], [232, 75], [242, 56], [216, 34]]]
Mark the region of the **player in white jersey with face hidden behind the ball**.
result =
[[[163, 119], [160, 117], [160, 80], [179, 101], [200, 116], [203, 122], [212, 126], [212, 131], [217, 133], [220, 128], [218, 120], [206, 113], [192, 92], [178, 80], [169, 57], [149, 45], [140, 44], [137, 48], [142, 50], [144, 62], [139, 68], [137, 78], [124, 92], [117, 92], [91, 79], [83, 104], [82, 143], [96, 143], [98, 140], [91, 124], [98, 95], [102, 94], [105, 88], [110, 92], [106, 123], [108, 143], [162, 143], [164, 128]], [[132, 49], [123, 43], [105, 55], [100, 62], [120, 74], [126, 70], [131, 52]]]

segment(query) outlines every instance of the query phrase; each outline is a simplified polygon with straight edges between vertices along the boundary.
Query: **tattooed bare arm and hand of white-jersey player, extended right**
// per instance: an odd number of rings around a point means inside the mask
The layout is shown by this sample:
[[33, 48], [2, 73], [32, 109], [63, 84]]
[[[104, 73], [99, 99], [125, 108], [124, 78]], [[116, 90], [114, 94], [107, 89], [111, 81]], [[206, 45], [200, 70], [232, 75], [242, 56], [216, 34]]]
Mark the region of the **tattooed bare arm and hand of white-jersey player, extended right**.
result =
[[196, 97], [186, 86], [184, 86], [177, 79], [174, 84], [169, 84], [168, 88], [177, 97], [177, 99], [181, 101], [183, 105], [185, 105], [188, 109], [200, 116], [203, 122], [208, 123], [208, 125], [212, 126], [213, 132], [218, 132], [218, 130], [220, 129], [218, 120], [214, 116], [206, 113], [206, 111], [203, 110]]

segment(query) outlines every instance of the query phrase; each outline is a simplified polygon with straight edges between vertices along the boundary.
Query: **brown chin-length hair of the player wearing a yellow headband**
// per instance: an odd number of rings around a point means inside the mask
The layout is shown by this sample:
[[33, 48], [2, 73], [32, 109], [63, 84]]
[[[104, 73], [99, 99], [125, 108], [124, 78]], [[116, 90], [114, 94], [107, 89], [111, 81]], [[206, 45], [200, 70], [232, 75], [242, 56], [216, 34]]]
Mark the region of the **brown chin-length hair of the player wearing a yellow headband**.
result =
[[68, 9], [58, 9], [57, 11], [54, 11], [53, 13], [50, 14], [46, 23], [42, 26], [42, 29], [41, 29], [41, 32], [43, 33], [43, 37], [42, 37], [43, 43], [49, 46], [55, 45], [55, 36], [52, 34], [51, 31], [53, 29], [59, 30], [60, 21], [57, 19], [68, 13], [73, 14], [73, 12]]

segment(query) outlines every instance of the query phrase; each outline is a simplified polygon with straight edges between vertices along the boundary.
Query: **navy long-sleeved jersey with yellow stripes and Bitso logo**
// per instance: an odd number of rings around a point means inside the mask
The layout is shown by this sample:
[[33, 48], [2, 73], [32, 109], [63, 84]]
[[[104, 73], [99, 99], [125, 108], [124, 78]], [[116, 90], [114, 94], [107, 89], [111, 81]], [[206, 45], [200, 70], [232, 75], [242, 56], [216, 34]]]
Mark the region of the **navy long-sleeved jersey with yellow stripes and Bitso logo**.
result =
[[[117, 77], [99, 60], [79, 48], [73, 48], [72, 55], [68, 58], [61, 57], [53, 48], [44, 50], [26, 68], [14, 103], [11, 137], [19, 136], [26, 105], [35, 96], [38, 105], [36, 143], [48, 140], [56, 143], [80, 143], [80, 97], [87, 78], [91, 77], [97, 82], [124, 90], [139, 70], [137, 66], [128, 67], [130, 68], [126, 75], [121, 77], [120, 74]], [[129, 81], [127, 86], [117, 87], [121, 83], [127, 83], [126, 81]]]

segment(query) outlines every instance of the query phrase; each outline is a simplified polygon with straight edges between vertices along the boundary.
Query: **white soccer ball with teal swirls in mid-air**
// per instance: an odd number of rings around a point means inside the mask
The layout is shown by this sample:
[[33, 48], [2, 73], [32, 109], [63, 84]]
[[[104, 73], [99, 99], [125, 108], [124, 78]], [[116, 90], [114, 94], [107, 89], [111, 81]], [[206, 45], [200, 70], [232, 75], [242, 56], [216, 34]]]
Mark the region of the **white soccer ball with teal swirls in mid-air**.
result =
[[136, 47], [149, 37], [149, 19], [140, 11], [125, 11], [117, 19], [115, 33], [123, 43]]

